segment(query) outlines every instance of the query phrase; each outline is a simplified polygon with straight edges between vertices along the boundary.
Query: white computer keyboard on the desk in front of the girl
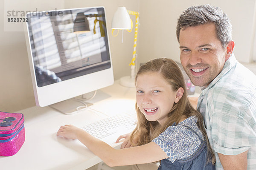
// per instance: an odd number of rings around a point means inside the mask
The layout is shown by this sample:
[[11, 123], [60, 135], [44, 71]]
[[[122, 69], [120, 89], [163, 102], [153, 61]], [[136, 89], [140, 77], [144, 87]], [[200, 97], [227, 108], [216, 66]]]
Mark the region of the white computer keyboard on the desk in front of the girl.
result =
[[135, 127], [135, 124], [136, 119], [134, 119], [134, 116], [125, 113], [85, 125], [82, 129], [86, 130], [92, 136], [102, 139], [122, 129]]

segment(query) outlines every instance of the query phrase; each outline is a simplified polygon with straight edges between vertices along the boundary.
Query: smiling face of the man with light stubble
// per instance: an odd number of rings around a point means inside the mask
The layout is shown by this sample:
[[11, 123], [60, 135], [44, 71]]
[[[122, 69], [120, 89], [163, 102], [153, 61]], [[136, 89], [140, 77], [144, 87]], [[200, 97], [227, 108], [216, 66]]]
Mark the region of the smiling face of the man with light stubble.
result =
[[226, 50], [212, 23], [180, 30], [180, 62], [196, 86], [207, 87], [221, 72]]

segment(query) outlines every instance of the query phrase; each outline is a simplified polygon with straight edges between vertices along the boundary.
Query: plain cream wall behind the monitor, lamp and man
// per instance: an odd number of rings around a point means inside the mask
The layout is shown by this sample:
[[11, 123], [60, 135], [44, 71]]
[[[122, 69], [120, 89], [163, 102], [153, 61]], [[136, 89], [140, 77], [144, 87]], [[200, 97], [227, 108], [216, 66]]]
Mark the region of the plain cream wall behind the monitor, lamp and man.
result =
[[[138, 63], [155, 57], [168, 57], [179, 61], [176, 40], [176, 22], [181, 11], [192, 5], [212, 4], [226, 12], [233, 25], [234, 53], [239, 61], [249, 62], [253, 31], [255, 0], [9, 0], [14, 10], [50, 10], [56, 6], [77, 8], [105, 6], [115, 79], [130, 74], [128, 64], [132, 58], [134, 30], [111, 35], [111, 19], [118, 6], [140, 12], [137, 41]], [[4, 31], [4, 0], [0, 0], [0, 111], [13, 112], [35, 105], [29, 71], [24, 32]], [[131, 17], [134, 20], [134, 16]]]

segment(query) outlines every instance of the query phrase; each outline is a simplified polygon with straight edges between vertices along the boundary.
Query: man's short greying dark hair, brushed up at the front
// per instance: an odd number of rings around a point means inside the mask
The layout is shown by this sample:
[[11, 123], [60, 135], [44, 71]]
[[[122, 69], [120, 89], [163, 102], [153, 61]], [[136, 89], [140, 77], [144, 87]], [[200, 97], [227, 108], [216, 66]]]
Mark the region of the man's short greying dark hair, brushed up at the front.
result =
[[214, 23], [216, 34], [223, 48], [232, 40], [232, 25], [230, 19], [221, 8], [207, 5], [192, 6], [182, 12], [177, 21], [176, 36], [180, 43], [180, 29]]

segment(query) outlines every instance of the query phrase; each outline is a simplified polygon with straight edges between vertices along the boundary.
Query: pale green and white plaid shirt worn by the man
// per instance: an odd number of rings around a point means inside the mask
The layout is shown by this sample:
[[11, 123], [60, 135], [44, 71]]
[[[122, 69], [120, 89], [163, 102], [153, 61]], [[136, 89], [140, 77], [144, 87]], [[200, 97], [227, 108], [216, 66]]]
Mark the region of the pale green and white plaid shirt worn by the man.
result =
[[197, 110], [204, 116], [209, 142], [217, 153], [248, 151], [248, 170], [256, 170], [256, 76], [232, 55], [221, 73], [202, 88]]

